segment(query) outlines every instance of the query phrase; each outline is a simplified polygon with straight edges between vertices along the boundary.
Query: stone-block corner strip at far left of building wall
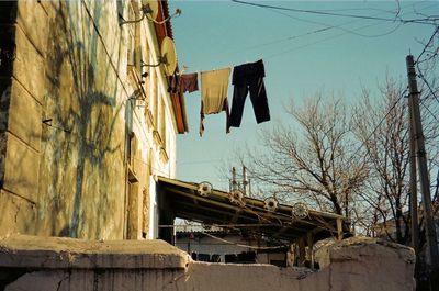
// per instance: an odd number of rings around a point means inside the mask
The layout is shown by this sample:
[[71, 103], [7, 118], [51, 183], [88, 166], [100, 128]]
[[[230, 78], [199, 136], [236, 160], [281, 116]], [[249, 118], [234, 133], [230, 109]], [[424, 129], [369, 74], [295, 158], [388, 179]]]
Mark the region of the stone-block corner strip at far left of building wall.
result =
[[[41, 110], [38, 98], [42, 97], [35, 82], [41, 77], [41, 67], [27, 69], [23, 56], [30, 54], [35, 64], [41, 56], [34, 35], [23, 36], [23, 29], [34, 21], [34, 16], [19, 16], [19, 4], [12, 1], [0, 2], [0, 233], [33, 232], [40, 159], [35, 136], [41, 131], [37, 115]], [[23, 38], [27, 41], [19, 47], [16, 41]], [[32, 74], [36, 76], [32, 78]], [[21, 107], [22, 110], [16, 111]], [[27, 122], [32, 126], [23, 126]]]

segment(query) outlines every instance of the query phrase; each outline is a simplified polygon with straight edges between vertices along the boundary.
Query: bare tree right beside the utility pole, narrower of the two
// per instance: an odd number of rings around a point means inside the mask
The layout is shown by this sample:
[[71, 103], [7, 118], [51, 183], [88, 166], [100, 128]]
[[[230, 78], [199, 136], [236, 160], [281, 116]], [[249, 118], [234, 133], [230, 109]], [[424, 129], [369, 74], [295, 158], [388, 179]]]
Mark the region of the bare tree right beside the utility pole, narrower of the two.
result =
[[404, 91], [391, 79], [381, 88], [382, 98], [373, 99], [370, 91], [363, 90], [353, 119], [370, 169], [367, 188], [359, 195], [370, 206], [371, 225], [380, 223], [391, 240], [402, 244], [407, 243], [409, 227], [408, 216], [404, 215], [408, 203], [409, 161]]

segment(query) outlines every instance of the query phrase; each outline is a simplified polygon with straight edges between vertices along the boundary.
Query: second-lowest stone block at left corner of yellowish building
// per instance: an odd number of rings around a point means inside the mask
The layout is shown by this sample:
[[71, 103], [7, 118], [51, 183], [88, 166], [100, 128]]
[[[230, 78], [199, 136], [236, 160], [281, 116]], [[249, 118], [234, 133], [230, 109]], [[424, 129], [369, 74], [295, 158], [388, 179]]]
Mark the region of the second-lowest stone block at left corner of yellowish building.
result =
[[8, 133], [3, 188], [35, 202], [38, 189], [40, 155]]

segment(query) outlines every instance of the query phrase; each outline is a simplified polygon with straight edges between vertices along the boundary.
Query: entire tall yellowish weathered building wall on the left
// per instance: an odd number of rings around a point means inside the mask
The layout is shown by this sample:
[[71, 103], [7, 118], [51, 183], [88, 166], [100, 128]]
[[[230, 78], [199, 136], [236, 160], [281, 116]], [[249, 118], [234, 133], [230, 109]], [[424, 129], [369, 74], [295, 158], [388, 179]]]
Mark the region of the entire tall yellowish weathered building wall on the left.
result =
[[177, 132], [162, 68], [139, 85], [154, 25], [120, 25], [137, 1], [1, 5], [0, 234], [151, 238], [150, 176], [173, 177]]

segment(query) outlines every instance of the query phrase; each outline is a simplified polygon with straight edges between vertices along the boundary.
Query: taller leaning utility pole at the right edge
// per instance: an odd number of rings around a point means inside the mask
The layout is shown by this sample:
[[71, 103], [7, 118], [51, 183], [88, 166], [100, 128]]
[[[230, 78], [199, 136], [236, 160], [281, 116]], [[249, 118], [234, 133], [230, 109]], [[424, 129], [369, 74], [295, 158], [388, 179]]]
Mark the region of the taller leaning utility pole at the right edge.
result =
[[[420, 122], [420, 111], [419, 111], [419, 91], [416, 81], [416, 70], [415, 61], [413, 55], [406, 57], [407, 64], [407, 77], [408, 77], [408, 88], [410, 90], [408, 104], [409, 104], [409, 116], [410, 116], [410, 127], [413, 127], [413, 135], [416, 143], [416, 156], [417, 165], [419, 166], [419, 181], [420, 191], [423, 194], [424, 204], [424, 217], [426, 223], [426, 240], [428, 250], [430, 254], [431, 268], [436, 269], [438, 267], [438, 248], [436, 240], [436, 227], [434, 223], [432, 212], [431, 212], [431, 195], [430, 195], [430, 183], [427, 170], [427, 158], [424, 143], [423, 124]], [[412, 168], [410, 168], [412, 169]]]

